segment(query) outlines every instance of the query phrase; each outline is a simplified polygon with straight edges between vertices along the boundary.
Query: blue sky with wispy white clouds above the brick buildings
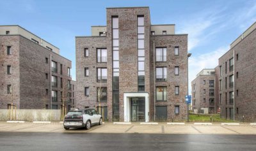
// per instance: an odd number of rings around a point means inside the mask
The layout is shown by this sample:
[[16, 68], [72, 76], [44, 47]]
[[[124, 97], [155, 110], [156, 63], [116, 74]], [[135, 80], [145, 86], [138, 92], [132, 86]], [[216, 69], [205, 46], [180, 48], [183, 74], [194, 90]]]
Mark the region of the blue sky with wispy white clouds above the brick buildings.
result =
[[90, 36], [92, 25], [106, 25], [107, 7], [124, 6], [149, 6], [152, 24], [175, 24], [177, 34], [189, 35], [189, 87], [256, 21], [255, 0], [1, 0], [0, 24], [20, 25], [60, 48], [76, 80], [75, 36]]

